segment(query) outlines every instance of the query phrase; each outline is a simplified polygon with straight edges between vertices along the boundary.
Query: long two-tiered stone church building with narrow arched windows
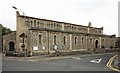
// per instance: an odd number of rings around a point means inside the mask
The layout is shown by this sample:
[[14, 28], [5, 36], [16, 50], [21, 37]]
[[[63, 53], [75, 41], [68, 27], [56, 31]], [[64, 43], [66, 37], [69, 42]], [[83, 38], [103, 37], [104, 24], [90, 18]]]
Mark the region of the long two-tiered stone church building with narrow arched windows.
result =
[[[115, 47], [116, 39], [115, 36], [104, 35], [103, 27], [92, 27], [91, 23], [88, 26], [76, 25], [21, 16], [17, 12], [16, 51], [23, 51], [22, 33], [27, 35], [25, 48], [31, 51], [31, 55], [33, 52], [54, 52], [55, 45], [61, 52], [91, 50], [102, 46], [110, 48]], [[33, 50], [33, 47], [38, 50]]]

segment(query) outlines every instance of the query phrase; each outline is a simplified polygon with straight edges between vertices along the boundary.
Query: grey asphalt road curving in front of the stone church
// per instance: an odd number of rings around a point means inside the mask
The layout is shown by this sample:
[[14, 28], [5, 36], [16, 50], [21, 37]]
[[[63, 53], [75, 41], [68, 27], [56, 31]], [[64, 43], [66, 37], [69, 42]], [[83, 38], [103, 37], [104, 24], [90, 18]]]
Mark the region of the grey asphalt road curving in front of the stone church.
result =
[[[107, 68], [108, 60], [116, 53], [75, 55], [68, 58], [33, 61], [3, 60], [3, 71], [111, 71]], [[99, 63], [90, 62], [101, 59]]]

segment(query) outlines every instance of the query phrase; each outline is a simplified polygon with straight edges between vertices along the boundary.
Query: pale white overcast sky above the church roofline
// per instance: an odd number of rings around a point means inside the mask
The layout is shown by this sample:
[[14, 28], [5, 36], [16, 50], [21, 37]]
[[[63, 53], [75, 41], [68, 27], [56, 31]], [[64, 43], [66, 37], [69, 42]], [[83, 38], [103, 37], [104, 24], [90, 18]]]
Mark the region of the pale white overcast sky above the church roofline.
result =
[[[0, 24], [16, 30], [17, 7], [26, 16], [68, 22], [93, 27], [104, 27], [104, 34], [118, 35], [119, 0], [2, 0]], [[21, 12], [22, 11], [22, 12]]]

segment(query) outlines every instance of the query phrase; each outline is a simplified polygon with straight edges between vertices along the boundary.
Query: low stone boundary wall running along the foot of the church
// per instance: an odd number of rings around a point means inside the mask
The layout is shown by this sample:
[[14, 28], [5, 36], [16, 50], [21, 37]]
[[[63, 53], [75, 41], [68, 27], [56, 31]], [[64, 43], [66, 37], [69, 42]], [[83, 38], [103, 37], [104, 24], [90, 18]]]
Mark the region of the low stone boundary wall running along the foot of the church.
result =
[[118, 52], [118, 50], [115, 49], [96, 49], [96, 50], [84, 50], [84, 51], [68, 51], [68, 52], [32, 52], [32, 55], [30, 55], [30, 52], [6, 52], [6, 56], [19, 56], [23, 57], [25, 56], [25, 53], [28, 57], [30, 56], [68, 56], [68, 55], [80, 55], [80, 54], [91, 54], [91, 53], [108, 53], [108, 52]]

